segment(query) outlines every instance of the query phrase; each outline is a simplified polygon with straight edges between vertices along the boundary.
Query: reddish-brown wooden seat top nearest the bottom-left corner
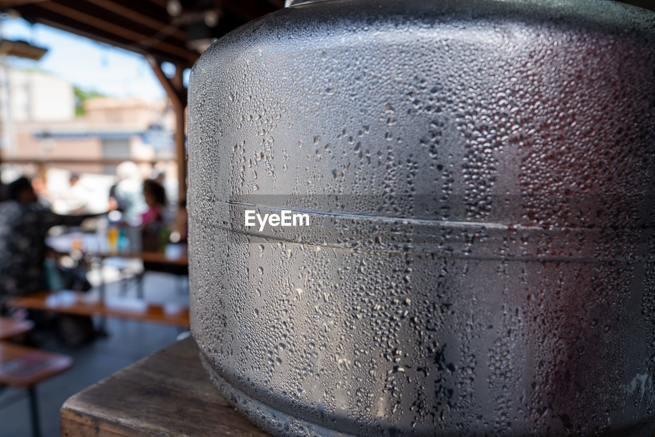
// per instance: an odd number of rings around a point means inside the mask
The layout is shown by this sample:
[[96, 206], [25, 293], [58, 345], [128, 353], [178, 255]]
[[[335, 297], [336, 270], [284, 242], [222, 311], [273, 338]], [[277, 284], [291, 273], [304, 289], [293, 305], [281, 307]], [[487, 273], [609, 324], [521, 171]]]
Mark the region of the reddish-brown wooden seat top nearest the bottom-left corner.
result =
[[24, 389], [73, 366], [73, 358], [0, 342], [0, 385]]

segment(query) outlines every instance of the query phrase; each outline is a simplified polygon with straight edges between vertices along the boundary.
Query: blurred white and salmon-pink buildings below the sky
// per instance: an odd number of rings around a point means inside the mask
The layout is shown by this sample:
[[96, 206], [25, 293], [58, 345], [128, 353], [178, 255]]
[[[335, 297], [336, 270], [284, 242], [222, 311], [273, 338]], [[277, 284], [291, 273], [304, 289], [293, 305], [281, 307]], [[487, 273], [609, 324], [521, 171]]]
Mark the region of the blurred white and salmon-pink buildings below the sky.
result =
[[90, 98], [76, 117], [70, 83], [41, 71], [5, 71], [0, 95], [3, 127], [10, 129], [3, 136], [4, 161], [82, 160], [66, 167], [113, 174], [115, 164], [102, 161], [174, 159], [174, 112], [165, 100]]

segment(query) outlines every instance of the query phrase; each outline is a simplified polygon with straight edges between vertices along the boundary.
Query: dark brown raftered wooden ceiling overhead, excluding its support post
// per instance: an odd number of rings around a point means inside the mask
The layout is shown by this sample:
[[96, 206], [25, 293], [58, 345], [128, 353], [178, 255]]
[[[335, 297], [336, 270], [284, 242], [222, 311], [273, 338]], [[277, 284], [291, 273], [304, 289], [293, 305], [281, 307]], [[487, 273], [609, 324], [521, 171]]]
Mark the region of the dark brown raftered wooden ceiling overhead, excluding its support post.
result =
[[[179, 16], [168, 14], [168, 0], [0, 0], [29, 22], [89, 37], [183, 68], [193, 66], [198, 47], [282, 5], [283, 0], [214, 0], [189, 3]], [[191, 5], [191, 6], [189, 6]], [[211, 5], [211, 6], [210, 6]], [[214, 28], [203, 29], [205, 9], [221, 9]], [[211, 10], [211, 9], [210, 9]], [[189, 35], [193, 35], [190, 38]]]

